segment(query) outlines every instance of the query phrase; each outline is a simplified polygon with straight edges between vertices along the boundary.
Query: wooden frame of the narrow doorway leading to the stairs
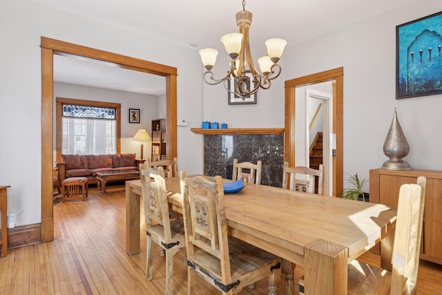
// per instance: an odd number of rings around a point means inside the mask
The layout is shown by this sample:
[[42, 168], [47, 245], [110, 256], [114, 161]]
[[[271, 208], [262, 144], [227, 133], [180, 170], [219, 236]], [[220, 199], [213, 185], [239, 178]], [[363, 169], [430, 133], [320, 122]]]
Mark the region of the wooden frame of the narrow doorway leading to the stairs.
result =
[[298, 77], [285, 82], [285, 132], [284, 161], [295, 166], [295, 112], [296, 87], [309, 86], [321, 82], [334, 81], [333, 133], [336, 134], [336, 155], [333, 157], [333, 196], [342, 197], [343, 190], [343, 88], [344, 68], [334, 68], [324, 72]]

